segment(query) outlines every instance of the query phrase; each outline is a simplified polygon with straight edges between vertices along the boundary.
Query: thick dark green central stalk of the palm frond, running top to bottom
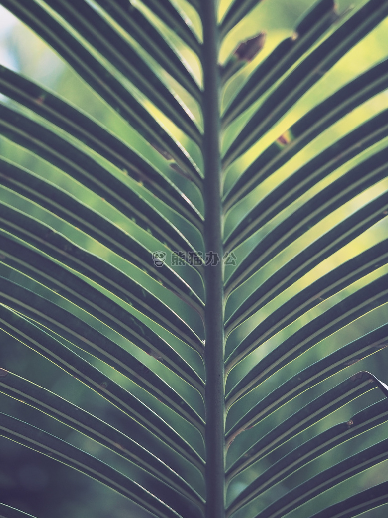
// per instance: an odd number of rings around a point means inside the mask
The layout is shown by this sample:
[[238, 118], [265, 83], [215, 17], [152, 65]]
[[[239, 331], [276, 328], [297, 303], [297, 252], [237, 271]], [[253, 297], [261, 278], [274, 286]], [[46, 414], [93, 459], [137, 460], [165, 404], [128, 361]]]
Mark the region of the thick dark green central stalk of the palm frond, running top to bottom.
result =
[[[204, 240], [207, 257], [219, 258], [205, 267], [206, 371], [206, 518], [225, 518], [225, 334], [223, 294], [222, 197], [220, 157], [220, 75], [217, 0], [206, 0], [203, 23], [203, 156], [205, 167]], [[214, 261], [215, 262], [215, 261]]]

